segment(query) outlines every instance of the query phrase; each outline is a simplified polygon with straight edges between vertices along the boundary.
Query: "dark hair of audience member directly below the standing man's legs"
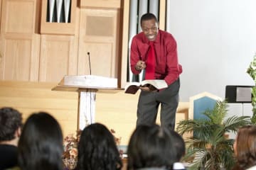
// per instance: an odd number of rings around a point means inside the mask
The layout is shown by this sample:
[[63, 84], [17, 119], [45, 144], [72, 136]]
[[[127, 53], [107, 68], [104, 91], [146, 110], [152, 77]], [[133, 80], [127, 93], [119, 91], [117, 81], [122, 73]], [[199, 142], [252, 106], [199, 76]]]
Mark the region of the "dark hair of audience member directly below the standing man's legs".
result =
[[166, 167], [176, 162], [170, 130], [159, 125], [139, 125], [129, 140], [128, 169]]

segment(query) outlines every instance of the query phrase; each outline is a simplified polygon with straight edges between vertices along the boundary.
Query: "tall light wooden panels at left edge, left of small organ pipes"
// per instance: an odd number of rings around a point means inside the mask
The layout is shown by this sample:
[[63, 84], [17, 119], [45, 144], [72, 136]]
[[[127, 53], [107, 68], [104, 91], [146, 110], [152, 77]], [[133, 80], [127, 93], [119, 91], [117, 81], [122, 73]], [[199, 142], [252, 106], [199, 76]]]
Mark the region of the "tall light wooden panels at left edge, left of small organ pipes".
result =
[[40, 36], [36, 0], [3, 0], [0, 79], [38, 81]]

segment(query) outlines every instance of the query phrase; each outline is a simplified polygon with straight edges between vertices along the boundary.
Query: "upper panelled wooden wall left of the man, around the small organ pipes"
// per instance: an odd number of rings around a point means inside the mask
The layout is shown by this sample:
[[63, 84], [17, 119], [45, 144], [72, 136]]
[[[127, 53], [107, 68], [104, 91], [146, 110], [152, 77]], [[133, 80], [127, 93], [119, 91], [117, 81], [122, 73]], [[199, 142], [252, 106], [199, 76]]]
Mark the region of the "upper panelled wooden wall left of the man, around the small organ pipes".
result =
[[71, 23], [48, 23], [47, 0], [2, 0], [0, 80], [58, 82], [90, 74], [90, 64], [93, 75], [121, 79], [121, 0], [71, 5]]

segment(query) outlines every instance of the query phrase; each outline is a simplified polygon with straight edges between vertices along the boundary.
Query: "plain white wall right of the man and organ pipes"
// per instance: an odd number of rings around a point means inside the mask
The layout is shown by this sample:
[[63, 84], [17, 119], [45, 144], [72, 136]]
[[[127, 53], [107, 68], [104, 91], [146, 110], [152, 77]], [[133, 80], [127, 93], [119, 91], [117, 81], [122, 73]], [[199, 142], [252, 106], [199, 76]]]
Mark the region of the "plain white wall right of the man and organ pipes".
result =
[[246, 70], [256, 52], [255, 0], [169, 1], [181, 101], [203, 91], [225, 98], [226, 85], [254, 85]]

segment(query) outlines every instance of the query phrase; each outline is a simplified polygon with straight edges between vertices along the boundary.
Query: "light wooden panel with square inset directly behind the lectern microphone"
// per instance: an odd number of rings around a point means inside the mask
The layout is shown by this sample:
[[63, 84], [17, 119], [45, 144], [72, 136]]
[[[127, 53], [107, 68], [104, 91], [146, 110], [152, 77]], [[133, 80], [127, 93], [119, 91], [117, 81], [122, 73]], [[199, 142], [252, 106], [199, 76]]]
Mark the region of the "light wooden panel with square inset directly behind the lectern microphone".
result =
[[119, 10], [81, 8], [78, 74], [114, 77], [119, 63]]

